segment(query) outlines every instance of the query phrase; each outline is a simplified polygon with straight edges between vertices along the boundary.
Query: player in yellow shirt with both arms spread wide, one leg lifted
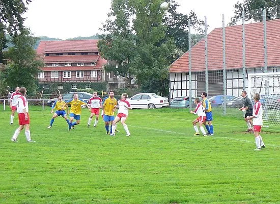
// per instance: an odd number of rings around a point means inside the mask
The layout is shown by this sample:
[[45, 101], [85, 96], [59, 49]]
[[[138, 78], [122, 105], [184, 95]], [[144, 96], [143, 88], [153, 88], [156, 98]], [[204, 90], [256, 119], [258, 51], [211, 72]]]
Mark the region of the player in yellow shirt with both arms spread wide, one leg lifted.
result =
[[[86, 105], [88, 109], [91, 111], [91, 108], [89, 105], [81, 100], [78, 99], [78, 93], [74, 93], [74, 98], [67, 101], [67, 103], [64, 106], [67, 106], [68, 104], [71, 105], [71, 111], [70, 111], [70, 122], [69, 122], [69, 131], [74, 125], [80, 123], [80, 114], [81, 114], [81, 105]], [[76, 120], [73, 122], [73, 120]]]

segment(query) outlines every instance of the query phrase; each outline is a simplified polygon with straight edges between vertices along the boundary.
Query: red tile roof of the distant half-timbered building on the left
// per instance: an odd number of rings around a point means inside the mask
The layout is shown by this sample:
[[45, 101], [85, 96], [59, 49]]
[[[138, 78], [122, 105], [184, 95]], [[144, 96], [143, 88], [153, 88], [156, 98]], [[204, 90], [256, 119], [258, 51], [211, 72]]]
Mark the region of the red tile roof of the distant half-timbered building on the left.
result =
[[[90, 69], [101, 69], [107, 64], [100, 55], [60, 55], [45, 56], [46, 53], [80, 53], [80, 52], [98, 52], [98, 40], [61, 40], [61, 41], [40, 41], [37, 48], [37, 55], [43, 58], [45, 63], [73, 63], [73, 62], [96, 62], [96, 66], [90, 66]], [[57, 70], [83, 70], [86, 66], [59, 66]], [[48, 67], [43, 67], [47, 71]], [[53, 70], [53, 69], [51, 69]]]

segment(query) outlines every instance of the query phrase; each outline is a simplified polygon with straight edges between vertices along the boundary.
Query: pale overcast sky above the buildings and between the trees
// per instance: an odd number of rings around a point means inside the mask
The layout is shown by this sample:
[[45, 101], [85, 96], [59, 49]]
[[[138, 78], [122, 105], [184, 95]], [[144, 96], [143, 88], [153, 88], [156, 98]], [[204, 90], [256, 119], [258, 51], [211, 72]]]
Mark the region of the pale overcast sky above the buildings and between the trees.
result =
[[[214, 28], [222, 27], [222, 14], [225, 14], [226, 24], [230, 21], [237, 0], [176, 0], [176, 2], [181, 5], [179, 11], [183, 14], [189, 14], [193, 10], [202, 20], [207, 16], [209, 33]], [[24, 24], [35, 36], [63, 40], [92, 36], [100, 33], [98, 28], [101, 27], [101, 22], [107, 19], [110, 3], [111, 0], [33, 0], [24, 14], [26, 17]]]

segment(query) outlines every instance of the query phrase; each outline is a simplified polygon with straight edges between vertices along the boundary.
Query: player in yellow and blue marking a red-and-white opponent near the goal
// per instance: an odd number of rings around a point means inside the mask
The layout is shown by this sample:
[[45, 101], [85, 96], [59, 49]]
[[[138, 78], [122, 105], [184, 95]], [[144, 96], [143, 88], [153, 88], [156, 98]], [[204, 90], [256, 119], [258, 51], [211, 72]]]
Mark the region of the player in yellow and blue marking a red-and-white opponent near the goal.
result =
[[[205, 125], [205, 127], [208, 131], [207, 135], [212, 136], [212, 135], [214, 135], [214, 131], [213, 131], [213, 125], [212, 125], [213, 116], [212, 116], [211, 104], [210, 104], [210, 101], [207, 99], [206, 92], [202, 92], [201, 97], [203, 99], [202, 105], [205, 109], [205, 114], [206, 114], [206, 120], [203, 122], [203, 124]], [[208, 122], [208, 124], [206, 123], [206, 121]]]

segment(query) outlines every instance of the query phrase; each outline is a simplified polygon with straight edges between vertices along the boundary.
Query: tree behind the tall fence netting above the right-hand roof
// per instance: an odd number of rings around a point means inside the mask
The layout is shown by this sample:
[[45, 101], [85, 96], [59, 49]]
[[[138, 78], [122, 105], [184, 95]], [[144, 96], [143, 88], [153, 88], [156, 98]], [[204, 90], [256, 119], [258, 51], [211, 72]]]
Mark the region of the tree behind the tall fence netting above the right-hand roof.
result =
[[[234, 16], [231, 17], [229, 25], [235, 25], [242, 19], [242, 10], [244, 7], [245, 21], [254, 19], [256, 22], [263, 21], [262, 10], [256, 12], [250, 12], [252, 10], [267, 8], [266, 16], [267, 20], [280, 18], [279, 12], [280, 0], [244, 0], [244, 3], [237, 2], [234, 5]], [[260, 14], [259, 14], [260, 13]]]

